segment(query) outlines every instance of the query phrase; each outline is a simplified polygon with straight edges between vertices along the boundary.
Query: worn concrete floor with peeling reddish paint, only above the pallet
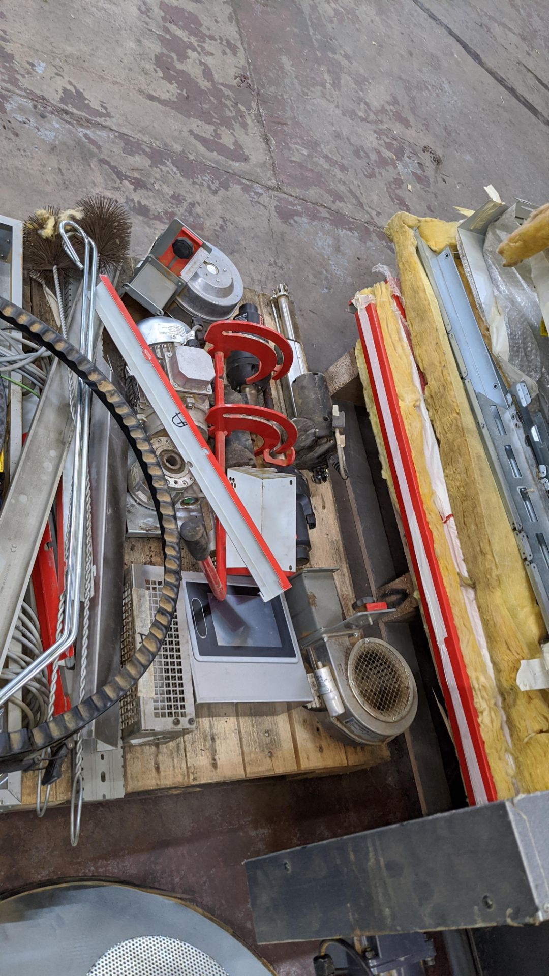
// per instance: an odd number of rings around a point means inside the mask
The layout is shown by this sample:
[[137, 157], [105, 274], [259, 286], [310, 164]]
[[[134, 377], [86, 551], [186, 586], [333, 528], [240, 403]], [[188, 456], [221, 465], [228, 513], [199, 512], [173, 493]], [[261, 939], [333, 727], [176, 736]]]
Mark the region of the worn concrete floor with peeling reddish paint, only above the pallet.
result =
[[[133, 251], [180, 217], [258, 291], [286, 280], [309, 365], [391, 264], [396, 210], [483, 185], [547, 195], [544, 0], [3, 0], [2, 212], [127, 204]], [[544, 50], [545, 48], [545, 50]]]

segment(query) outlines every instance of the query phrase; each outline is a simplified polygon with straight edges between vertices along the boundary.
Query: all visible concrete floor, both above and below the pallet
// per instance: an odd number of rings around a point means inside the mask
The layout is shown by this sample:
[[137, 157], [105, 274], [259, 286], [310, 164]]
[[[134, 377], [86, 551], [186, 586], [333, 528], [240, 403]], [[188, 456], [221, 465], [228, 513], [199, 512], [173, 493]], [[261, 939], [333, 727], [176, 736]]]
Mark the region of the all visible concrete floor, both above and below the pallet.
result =
[[[244, 283], [287, 280], [310, 366], [355, 342], [346, 305], [391, 264], [399, 209], [452, 219], [483, 185], [547, 198], [544, 0], [4, 0], [0, 211], [102, 191], [142, 255], [174, 217]], [[74, 875], [173, 888], [252, 939], [245, 856], [418, 814], [396, 761], [0, 823], [0, 886]], [[304, 947], [271, 947], [283, 976]]]

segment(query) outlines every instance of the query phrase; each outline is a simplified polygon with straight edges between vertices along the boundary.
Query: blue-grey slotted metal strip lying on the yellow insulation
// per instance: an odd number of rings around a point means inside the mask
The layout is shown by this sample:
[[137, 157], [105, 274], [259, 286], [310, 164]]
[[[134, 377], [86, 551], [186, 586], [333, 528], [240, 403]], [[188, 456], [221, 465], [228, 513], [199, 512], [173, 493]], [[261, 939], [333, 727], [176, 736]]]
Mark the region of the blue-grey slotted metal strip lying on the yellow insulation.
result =
[[486, 456], [549, 630], [549, 500], [540, 491], [523, 427], [483, 339], [449, 248], [436, 255], [417, 235], [418, 254], [481, 433]]

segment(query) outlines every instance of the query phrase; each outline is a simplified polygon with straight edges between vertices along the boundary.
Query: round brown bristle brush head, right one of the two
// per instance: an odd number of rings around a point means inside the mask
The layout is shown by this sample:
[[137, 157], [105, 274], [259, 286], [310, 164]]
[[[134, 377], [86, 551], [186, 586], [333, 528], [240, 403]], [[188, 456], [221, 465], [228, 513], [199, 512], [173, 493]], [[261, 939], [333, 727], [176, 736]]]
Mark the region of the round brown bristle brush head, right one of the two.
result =
[[[100, 271], [107, 274], [128, 257], [132, 229], [129, 214], [121, 203], [101, 193], [78, 200], [76, 209], [82, 211], [78, 222], [82, 230], [96, 242]], [[75, 246], [80, 255], [76, 239]]]

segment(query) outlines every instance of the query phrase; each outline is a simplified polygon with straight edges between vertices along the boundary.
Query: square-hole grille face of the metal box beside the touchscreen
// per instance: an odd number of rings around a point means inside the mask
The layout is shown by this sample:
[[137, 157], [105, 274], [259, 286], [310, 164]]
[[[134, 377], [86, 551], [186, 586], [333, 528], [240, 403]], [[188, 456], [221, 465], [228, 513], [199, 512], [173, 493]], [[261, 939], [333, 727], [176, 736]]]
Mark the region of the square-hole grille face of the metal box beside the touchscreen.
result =
[[[162, 581], [147, 578], [145, 589], [148, 593], [148, 610], [152, 620], [158, 609], [162, 592]], [[154, 673], [154, 699], [152, 707], [155, 718], [185, 718], [187, 706], [186, 688], [183, 679], [183, 662], [177, 610], [162, 650], [152, 665]]]

